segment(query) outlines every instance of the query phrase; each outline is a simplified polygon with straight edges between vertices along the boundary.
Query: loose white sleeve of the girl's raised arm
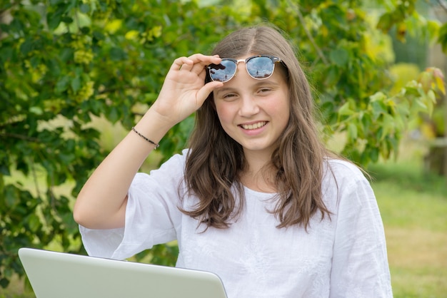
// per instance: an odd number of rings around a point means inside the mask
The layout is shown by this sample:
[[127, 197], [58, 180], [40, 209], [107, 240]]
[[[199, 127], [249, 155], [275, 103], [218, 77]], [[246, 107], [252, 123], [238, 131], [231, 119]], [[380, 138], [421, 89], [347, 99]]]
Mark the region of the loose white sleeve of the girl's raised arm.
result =
[[124, 228], [79, 227], [87, 253], [123, 260], [154, 245], [176, 240], [182, 216], [179, 197], [183, 175], [183, 155], [174, 155], [150, 175], [137, 173], [129, 188]]

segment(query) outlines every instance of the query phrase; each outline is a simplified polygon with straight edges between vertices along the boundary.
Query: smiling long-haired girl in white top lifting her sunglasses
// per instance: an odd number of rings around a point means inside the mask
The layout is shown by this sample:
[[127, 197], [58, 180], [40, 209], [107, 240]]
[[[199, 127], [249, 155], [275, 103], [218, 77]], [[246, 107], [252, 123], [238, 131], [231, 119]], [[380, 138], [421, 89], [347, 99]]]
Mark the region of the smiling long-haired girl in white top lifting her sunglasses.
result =
[[[189, 149], [137, 173], [194, 112]], [[176, 266], [218, 274], [229, 298], [392, 297], [371, 186], [318, 139], [308, 81], [268, 26], [233, 32], [212, 56], [177, 58], [74, 218], [89, 255], [124, 259], [178, 240]]]

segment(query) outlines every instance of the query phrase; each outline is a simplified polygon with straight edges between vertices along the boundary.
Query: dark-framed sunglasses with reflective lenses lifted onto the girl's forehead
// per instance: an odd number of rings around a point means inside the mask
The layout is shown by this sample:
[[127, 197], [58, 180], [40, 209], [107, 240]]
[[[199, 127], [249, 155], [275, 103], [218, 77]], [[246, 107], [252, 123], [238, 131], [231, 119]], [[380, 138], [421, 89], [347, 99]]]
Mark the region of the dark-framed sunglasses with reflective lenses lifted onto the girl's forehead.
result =
[[222, 58], [220, 64], [210, 64], [208, 67], [209, 76], [212, 81], [228, 82], [236, 74], [239, 62], [245, 62], [247, 73], [256, 80], [270, 78], [275, 70], [275, 63], [281, 59], [275, 56], [258, 55], [246, 59]]

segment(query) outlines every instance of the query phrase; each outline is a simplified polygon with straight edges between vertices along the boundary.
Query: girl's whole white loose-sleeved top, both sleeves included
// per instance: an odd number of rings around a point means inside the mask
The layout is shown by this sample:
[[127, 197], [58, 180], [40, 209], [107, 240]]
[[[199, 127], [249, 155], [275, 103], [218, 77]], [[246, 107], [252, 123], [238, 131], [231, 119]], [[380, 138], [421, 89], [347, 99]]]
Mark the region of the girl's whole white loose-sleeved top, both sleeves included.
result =
[[278, 220], [267, 211], [274, 194], [247, 187], [241, 217], [228, 229], [204, 232], [177, 207], [198, 202], [191, 196], [180, 200], [185, 160], [186, 151], [150, 175], [135, 176], [124, 228], [80, 227], [89, 255], [121, 260], [178, 240], [176, 266], [218, 274], [228, 298], [393, 297], [376, 198], [351, 163], [328, 160], [333, 175], [327, 170], [323, 178], [323, 200], [333, 214], [321, 220], [317, 212], [307, 232], [276, 228]]

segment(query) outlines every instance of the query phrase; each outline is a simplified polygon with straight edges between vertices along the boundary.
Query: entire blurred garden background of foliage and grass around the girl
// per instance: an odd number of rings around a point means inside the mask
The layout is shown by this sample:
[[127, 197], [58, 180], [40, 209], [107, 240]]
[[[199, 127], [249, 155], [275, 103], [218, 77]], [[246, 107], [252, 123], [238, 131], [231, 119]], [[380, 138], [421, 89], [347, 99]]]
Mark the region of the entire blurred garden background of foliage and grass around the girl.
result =
[[[0, 298], [19, 247], [85, 254], [71, 210], [172, 61], [241, 26], [283, 31], [321, 138], [371, 174], [395, 297], [447, 297], [447, 1], [0, 0]], [[142, 171], [188, 146], [194, 115]], [[176, 243], [132, 260], [174, 265]]]

